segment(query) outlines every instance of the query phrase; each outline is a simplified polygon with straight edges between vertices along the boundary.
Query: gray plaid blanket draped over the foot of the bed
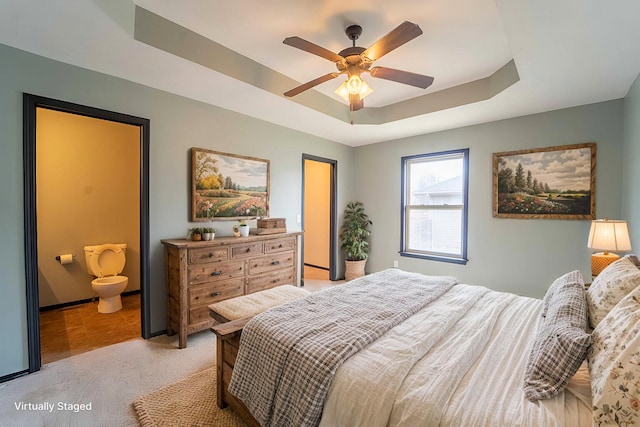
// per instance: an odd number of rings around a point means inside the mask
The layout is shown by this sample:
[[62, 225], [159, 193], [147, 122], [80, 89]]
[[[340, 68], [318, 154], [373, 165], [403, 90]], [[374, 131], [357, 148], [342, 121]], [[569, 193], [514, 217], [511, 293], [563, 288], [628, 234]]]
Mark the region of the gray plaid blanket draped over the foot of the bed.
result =
[[242, 332], [229, 391], [264, 427], [316, 426], [338, 367], [456, 283], [389, 269], [266, 311]]

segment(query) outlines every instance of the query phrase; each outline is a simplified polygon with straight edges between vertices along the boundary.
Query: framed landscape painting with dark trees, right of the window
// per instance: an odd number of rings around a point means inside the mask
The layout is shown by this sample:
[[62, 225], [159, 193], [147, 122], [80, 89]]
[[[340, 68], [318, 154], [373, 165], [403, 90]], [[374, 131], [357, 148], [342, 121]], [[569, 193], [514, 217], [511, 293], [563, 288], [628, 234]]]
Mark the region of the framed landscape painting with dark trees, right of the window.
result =
[[596, 144], [493, 154], [493, 216], [595, 219]]

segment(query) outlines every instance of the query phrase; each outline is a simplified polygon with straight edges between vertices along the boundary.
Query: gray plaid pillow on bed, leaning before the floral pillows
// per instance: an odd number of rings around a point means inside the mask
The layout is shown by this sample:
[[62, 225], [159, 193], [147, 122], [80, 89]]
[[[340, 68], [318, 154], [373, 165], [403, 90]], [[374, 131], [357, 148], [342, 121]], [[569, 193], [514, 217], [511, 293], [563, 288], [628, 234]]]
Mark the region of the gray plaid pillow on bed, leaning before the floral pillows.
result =
[[542, 319], [529, 354], [524, 394], [532, 402], [556, 396], [585, 359], [591, 337], [586, 333], [587, 304], [579, 270], [558, 278], [546, 298]]

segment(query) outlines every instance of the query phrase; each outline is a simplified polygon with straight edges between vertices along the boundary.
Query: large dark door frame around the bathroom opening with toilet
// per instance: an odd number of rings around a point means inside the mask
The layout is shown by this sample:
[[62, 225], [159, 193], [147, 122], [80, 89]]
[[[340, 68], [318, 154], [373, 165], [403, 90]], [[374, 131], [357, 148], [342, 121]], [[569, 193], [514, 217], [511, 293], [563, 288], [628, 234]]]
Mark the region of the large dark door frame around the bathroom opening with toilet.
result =
[[46, 108], [140, 127], [140, 311], [142, 337], [151, 338], [149, 285], [149, 119], [23, 94], [24, 247], [29, 373], [40, 370], [38, 230], [36, 221], [36, 109]]

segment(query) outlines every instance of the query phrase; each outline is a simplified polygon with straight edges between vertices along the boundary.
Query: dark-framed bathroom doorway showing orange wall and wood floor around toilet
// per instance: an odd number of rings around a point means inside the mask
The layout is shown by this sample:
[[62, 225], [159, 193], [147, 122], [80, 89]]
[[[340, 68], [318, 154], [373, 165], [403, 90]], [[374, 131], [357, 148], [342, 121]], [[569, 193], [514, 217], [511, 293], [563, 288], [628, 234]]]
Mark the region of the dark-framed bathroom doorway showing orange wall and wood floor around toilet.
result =
[[[149, 121], [24, 95], [29, 372], [149, 338]], [[36, 192], [37, 190], [37, 192]], [[123, 309], [97, 312], [84, 246], [127, 243]], [[58, 259], [60, 258], [60, 259]], [[65, 260], [65, 262], [61, 262]]]

